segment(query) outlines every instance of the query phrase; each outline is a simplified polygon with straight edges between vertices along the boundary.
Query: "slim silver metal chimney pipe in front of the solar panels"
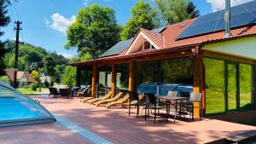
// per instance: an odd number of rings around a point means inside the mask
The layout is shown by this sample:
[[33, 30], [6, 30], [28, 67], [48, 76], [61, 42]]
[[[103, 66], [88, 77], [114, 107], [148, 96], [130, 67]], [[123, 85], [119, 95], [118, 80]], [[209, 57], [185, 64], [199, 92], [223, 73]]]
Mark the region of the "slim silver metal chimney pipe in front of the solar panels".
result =
[[230, 37], [230, 0], [225, 0], [225, 37]]

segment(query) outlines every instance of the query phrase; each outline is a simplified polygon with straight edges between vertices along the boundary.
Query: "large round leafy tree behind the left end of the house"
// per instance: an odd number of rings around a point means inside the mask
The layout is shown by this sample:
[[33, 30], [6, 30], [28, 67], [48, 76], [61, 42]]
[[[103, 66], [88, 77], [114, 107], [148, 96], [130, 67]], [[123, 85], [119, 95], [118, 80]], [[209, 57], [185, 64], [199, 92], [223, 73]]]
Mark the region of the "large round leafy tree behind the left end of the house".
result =
[[66, 48], [77, 47], [96, 59], [119, 42], [119, 31], [114, 10], [95, 3], [80, 9], [76, 21], [67, 28]]

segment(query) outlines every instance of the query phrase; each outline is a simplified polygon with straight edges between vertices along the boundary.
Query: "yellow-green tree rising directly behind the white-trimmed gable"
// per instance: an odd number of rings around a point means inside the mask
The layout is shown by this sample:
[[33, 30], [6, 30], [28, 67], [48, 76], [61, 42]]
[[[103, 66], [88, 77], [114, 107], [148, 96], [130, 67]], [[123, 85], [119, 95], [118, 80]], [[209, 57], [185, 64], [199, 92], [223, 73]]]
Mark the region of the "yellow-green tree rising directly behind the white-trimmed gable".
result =
[[151, 8], [149, 3], [137, 2], [131, 9], [131, 19], [126, 22], [121, 32], [121, 39], [134, 37], [141, 27], [148, 30], [156, 28], [159, 26], [156, 16], [156, 10]]

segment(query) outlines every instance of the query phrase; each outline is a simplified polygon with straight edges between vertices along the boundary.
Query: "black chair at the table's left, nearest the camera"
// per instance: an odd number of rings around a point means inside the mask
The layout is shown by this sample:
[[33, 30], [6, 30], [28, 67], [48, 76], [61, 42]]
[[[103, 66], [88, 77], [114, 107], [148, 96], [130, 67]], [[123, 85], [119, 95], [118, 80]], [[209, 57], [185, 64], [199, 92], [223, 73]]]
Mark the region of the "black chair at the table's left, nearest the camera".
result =
[[166, 121], [167, 121], [168, 110], [167, 110], [166, 102], [157, 101], [157, 98], [155, 97], [154, 93], [144, 93], [144, 95], [145, 95], [145, 103], [144, 103], [145, 121], [147, 120], [147, 116], [149, 116], [149, 109], [154, 109], [154, 123], [156, 119], [156, 110], [166, 109]]

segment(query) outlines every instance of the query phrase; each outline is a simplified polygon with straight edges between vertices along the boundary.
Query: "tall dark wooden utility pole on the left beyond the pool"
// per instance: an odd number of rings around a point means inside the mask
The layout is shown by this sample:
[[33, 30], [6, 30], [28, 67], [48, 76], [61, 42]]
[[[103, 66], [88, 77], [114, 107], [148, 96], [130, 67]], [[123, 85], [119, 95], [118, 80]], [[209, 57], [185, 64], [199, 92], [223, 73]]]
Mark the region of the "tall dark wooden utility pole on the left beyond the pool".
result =
[[14, 67], [14, 88], [16, 89], [18, 84], [17, 84], [17, 72], [18, 72], [18, 57], [19, 57], [19, 44], [20, 44], [20, 24], [22, 24], [21, 21], [15, 21], [16, 27], [16, 42], [15, 42], [15, 67]]

